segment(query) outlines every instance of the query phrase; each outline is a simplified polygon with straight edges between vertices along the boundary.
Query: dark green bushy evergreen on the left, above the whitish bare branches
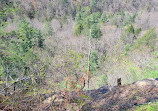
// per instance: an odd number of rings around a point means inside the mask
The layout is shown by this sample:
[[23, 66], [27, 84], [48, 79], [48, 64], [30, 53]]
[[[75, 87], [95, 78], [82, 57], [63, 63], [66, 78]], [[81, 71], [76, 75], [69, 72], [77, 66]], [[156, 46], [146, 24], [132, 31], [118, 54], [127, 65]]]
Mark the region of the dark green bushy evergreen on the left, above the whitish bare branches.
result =
[[40, 30], [32, 28], [26, 20], [22, 20], [18, 26], [18, 37], [21, 40], [22, 51], [27, 52], [33, 46], [43, 48], [43, 35]]

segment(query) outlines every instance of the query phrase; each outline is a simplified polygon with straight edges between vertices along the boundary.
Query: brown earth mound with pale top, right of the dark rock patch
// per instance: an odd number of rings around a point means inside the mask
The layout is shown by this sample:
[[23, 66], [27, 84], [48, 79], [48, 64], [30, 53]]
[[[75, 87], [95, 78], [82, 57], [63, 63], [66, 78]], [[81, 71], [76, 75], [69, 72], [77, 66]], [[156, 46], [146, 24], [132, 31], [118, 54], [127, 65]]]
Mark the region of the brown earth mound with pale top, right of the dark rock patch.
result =
[[117, 111], [127, 110], [158, 100], [158, 81], [145, 79], [130, 85], [115, 87], [111, 91], [99, 95], [92, 102], [86, 103], [83, 111]]

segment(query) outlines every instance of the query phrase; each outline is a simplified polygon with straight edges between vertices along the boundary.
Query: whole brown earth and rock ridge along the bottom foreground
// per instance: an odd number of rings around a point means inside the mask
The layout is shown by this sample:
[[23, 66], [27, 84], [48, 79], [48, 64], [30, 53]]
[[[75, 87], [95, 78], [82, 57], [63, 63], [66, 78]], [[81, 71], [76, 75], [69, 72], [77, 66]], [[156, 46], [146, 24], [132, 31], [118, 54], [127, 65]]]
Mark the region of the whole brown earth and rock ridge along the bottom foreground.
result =
[[[156, 79], [144, 79], [124, 86], [111, 88], [103, 86], [97, 90], [80, 91], [80, 94], [79, 92], [67, 92], [66, 94], [68, 99], [62, 95], [53, 95], [46, 99], [43, 104], [48, 106], [54, 100], [52, 105], [54, 104], [55, 110], [67, 110], [66, 105], [71, 106], [69, 110], [72, 110], [74, 104], [77, 104], [78, 109], [76, 110], [81, 111], [122, 111], [133, 106], [157, 101], [158, 81]], [[80, 104], [81, 102], [84, 103]]]

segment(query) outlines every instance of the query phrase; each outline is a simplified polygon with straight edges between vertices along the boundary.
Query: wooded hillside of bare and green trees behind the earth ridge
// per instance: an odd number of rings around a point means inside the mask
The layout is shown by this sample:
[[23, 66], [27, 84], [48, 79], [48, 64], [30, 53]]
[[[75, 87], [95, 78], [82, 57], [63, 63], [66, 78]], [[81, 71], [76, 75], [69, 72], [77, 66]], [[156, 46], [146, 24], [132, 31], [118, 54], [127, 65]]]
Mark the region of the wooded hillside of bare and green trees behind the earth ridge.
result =
[[157, 0], [0, 0], [0, 109], [158, 78], [157, 34]]

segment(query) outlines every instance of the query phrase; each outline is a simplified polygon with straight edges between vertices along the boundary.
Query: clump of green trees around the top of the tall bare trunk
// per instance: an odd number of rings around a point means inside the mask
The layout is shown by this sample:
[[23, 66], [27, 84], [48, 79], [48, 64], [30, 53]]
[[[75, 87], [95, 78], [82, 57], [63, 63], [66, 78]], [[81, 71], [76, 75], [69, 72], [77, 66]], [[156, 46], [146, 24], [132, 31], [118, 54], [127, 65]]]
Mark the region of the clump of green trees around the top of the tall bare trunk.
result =
[[89, 32], [87, 32], [87, 30], [91, 29], [92, 38], [98, 38], [101, 36], [101, 30], [97, 26], [100, 21], [101, 14], [100, 12], [94, 12], [91, 14], [90, 11], [89, 7], [84, 7], [76, 14], [75, 35], [84, 34], [89, 36]]

